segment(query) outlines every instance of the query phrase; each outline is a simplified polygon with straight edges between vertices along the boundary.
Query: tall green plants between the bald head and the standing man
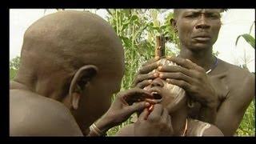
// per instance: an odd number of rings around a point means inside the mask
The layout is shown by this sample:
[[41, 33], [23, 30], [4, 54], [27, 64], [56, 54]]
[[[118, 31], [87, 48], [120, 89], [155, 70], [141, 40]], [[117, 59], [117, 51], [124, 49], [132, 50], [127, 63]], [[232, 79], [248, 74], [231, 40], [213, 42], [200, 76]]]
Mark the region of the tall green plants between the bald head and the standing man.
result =
[[[122, 79], [122, 90], [129, 89], [133, 85], [133, 79], [142, 63], [150, 58], [154, 58], [155, 37], [166, 34], [169, 39], [178, 39], [174, 30], [170, 28], [170, 20], [162, 23], [158, 20], [159, 10], [141, 9], [109, 9], [108, 22], [122, 40], [125, 49], [126, 71]], [[172, 18], [173, 14], [168, 14], [167, 18]], [[178, 43], [178, 41], [176, 41]], [[170, 42], [175, 45], [174, 42]], [[166, 46], [166, 54], [174, 54]], [[114, 97], [113, 97], [114, 98]], [[130, 118], [109, 130], [108, 135], [115, 134], [118, 129], [130, 123]]]

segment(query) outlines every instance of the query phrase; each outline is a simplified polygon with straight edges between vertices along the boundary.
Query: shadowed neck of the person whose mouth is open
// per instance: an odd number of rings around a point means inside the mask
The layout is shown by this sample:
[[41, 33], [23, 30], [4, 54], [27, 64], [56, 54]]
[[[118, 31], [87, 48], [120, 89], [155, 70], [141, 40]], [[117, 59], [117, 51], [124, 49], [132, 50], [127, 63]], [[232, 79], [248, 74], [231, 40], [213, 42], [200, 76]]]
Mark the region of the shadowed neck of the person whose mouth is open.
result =
[[170, 114], [171, 124], [174, 129], [174, 136], [182, 136], [185, 131], [187, 110], [186, 106]]

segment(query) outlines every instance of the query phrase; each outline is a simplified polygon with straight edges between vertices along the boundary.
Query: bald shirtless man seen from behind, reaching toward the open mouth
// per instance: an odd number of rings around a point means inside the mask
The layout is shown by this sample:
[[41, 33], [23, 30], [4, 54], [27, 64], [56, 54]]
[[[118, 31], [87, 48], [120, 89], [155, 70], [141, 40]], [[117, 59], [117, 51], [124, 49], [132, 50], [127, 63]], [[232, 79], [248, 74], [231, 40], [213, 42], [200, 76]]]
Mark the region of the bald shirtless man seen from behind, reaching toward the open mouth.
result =
[[[69, 10], [39, 19], [26, 30], [20, 68], [10, 82], [10, 135], [106, 134], [150, 105], [136, 99], [152, 98], [146, 90], [131, 89], [118, 93], [110, 106], [123, 74], [122, 43], [96, 14]], [[141, 122], [139, 133], [148, 133], [150, 123], [155, 134], [169, 134], [170, 122], [161, 121], [168, 114], [157, 117]]]

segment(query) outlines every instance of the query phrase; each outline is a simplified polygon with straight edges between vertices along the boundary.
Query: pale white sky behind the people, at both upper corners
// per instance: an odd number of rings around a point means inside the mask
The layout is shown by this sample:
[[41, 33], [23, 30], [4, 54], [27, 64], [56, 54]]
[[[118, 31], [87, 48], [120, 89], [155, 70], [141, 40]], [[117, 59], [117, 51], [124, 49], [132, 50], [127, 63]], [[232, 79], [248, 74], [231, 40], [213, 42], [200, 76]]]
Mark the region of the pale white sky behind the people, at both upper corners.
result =
[[[23, 34], [26, 29], [39, 18], [56, 11], [56, 9], [10, 9], [10, 60], [20, 56]], [[90, 11], [96, 12], [96, 14], [106, 19], [106, 10], [99, 9]], [[171, 11], [171, 9], [168, 11]], [[160, 21], [165, 17], [168, 11], [159, 15], [158, 18]], [[229, 9], [222, 14], [222, 28], [219, 31], [218, 40], [214, 44], [214, 50], [217, 50], [219, 53], [218, 58], [234, 65], [242, 65], [246, 58], [248, 69], [250, 72], [255, 72], [254, 48], [243, 38], [240, 38], [238, 46], [235, 46], [238, 35], [249, 34], [250, 26], [254, 21], [254, 9]], [[255, 38], [255, 24], [251, 35]]]

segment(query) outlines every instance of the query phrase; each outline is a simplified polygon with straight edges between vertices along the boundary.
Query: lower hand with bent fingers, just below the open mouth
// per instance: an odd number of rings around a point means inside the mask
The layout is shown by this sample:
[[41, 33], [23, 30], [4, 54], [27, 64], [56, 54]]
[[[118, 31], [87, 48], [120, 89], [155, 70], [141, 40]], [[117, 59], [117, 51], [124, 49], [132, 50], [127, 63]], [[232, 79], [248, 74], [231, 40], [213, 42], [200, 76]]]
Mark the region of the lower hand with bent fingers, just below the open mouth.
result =
[[150, 114], [148, 110], [143, 110], [138, 121], [134, 123], [135, 136], [171, 136], [173, 134], [170, 115], [161, 104], [155, 104]]

